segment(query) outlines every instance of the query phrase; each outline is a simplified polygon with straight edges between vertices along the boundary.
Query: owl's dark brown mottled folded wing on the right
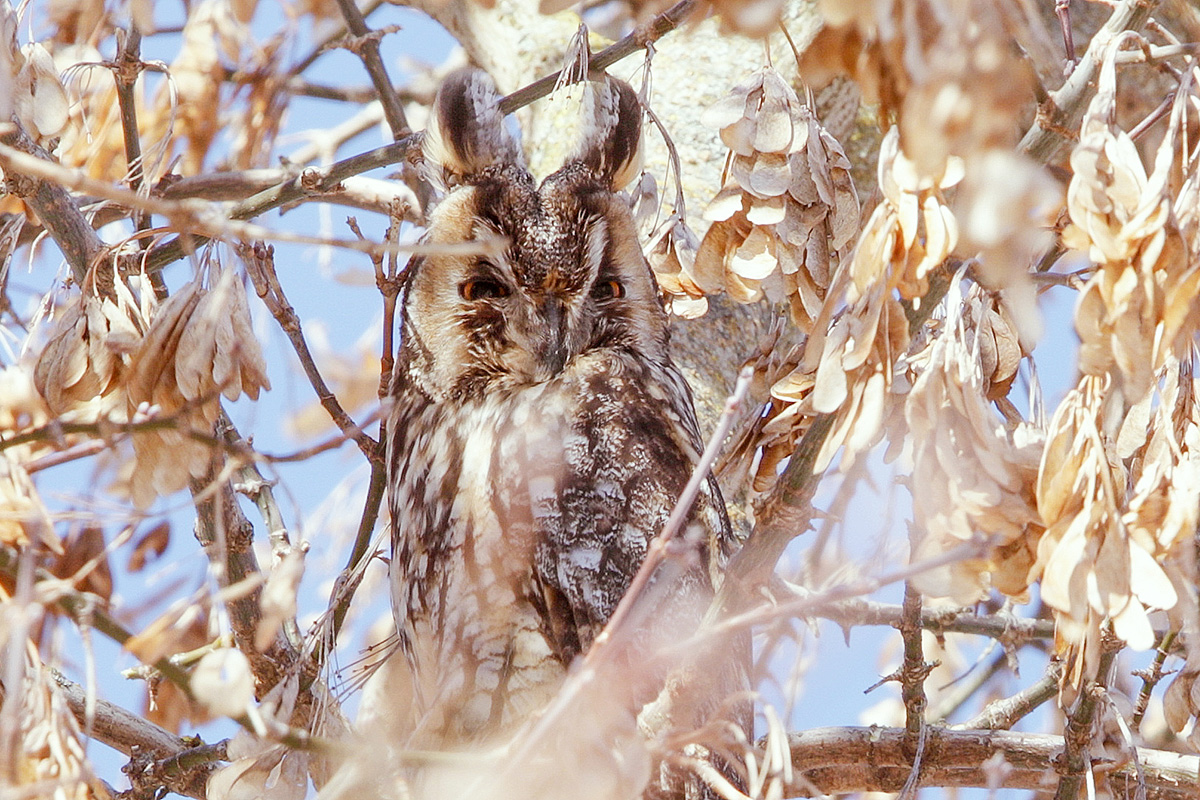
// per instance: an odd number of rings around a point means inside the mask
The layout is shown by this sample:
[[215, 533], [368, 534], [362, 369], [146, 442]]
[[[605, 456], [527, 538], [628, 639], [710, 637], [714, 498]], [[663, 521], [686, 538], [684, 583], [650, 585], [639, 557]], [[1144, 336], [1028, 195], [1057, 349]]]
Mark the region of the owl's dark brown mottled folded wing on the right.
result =
[[[571, 410], [557, 434], [539, 439], [526, 432], [523, 461], [536, 465], [527, 494], [532, 600], [564, 663], [584, 652], [612, 616], [697, 456], [690, 405], [665, 397], [660, 384], [628, 365], [611, 367], [568, 375], [560, 392], [570, 402], [559, 397], [558, 407]], [[709, 557], [728, 536], [714, 481], [706, 482], [686, 527], [697, 540], [696, 558], [683, 575], [650, 587], [647, 630], [664, 636], [689, 634], [713, 595]]]

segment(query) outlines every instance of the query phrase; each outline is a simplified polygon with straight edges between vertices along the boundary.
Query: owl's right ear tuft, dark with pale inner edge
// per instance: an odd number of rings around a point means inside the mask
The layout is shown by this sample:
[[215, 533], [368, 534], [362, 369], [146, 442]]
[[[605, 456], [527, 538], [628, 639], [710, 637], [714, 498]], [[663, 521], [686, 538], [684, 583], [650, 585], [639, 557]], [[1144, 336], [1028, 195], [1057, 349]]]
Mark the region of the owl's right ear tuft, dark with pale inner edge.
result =
[[610, 188], [622, 190], [642, 172], [642, 103], [624, 80], [604, 76], [587, 83], [583, 128], [574, 161]]

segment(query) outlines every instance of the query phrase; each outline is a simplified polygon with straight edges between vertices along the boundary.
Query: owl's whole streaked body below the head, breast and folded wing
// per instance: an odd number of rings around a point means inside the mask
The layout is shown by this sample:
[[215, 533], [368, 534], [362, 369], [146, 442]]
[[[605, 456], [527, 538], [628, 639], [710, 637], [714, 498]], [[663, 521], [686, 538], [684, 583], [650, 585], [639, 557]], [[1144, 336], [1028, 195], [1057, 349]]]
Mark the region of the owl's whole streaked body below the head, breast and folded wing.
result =
[[[616, 351], [475, 401], [402, 402], [389, 451], [392, 603], [422, 728], [444, 745], [548, 702], [682, 493], [695, 420], [678, 373]], [[712, 492], [692, 511], [702, 551], [726, 530]], [[707, 604], [703, 569], [684, 583], [660, 618]]]

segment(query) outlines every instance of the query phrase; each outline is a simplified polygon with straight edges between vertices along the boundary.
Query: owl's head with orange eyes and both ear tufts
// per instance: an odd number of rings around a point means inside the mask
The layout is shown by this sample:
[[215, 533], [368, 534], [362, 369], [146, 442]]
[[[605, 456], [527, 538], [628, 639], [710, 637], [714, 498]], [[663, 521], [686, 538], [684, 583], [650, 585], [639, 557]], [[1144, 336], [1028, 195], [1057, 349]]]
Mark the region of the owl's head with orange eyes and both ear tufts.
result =
[[413, 258], [401, 380], [462, 397], [548, 380], [600, 348], [667, 360], [658, 287], [618, 193], [641, 169], [641, 106], [605, 77], [588, 84], [583, 114], [574, 155], [538, 186], [491, 78], [472, 70], [443, 84], [425, 152], [449, 192], [425, 241], [491, 247]]

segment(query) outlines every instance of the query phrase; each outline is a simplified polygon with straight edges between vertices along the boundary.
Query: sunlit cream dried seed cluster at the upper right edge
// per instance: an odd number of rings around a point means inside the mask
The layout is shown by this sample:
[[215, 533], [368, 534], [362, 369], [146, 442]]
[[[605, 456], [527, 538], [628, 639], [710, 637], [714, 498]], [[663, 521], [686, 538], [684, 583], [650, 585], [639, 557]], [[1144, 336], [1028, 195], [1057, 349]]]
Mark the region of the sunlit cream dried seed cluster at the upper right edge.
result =
[[[1105, 53], [1097, 94], [1070, 156], [1070, 224], [1063, 241], [1085, 251], [1097, 265], [1075, 311], [1080, 368], [1090, 375], [1118, 375], [1118, 387], [1133, 403], [1151, 389], [1166, 359], [1184, 350], [1200, 329], [1194, 302], [1200, 294], [1194, 234], [1200, 211], [1187, 191], [1172, 201], [1189, 83], [1180, 86], [1150, 174], [1133, 139], [1112, 121], [1116, 60], [1124, 38], [1114, 40]], [[1194, 186], [1195, 164], [1187, 167]]]

